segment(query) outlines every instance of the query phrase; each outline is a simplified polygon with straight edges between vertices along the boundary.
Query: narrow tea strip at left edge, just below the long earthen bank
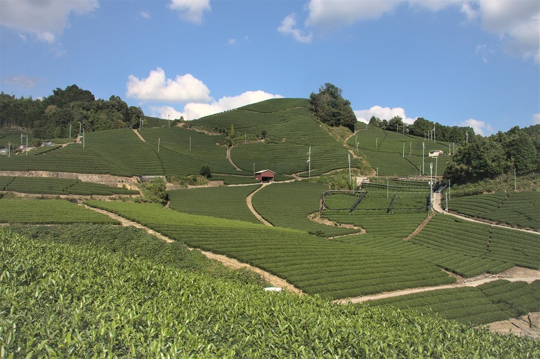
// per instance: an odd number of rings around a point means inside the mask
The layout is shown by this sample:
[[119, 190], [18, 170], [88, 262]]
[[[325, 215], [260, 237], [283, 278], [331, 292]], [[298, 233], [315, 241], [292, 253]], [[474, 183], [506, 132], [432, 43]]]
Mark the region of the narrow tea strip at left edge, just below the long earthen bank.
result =
[[78, 194], [82, 196], [112, 196], [139, 194], [139, 191], [112, 187], [101, 183], [82, 182], [68, 178], [0, 176], [0, 191], [33, 194]]

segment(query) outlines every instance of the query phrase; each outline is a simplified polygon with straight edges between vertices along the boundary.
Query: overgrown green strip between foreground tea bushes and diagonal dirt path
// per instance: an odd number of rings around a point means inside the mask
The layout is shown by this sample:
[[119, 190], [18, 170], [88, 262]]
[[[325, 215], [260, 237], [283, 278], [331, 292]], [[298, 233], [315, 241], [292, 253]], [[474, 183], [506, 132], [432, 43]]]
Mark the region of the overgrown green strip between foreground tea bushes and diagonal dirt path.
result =
[[184, 243], [166, 243], [146, 233], [144, 229], [116, 225], [10, 225], [9, 230], [36, 240], [68, 245], [100, 248], [105, 252], [122, 254], [127, 258], [150, 260], [157, 265], [177, 269], [207, 272], [217, 278], [227, 278], [240, 283], [266, 285], [247, 269], [230, 269], [215, 260], [206, 258], [199, 251], [192, 251]]

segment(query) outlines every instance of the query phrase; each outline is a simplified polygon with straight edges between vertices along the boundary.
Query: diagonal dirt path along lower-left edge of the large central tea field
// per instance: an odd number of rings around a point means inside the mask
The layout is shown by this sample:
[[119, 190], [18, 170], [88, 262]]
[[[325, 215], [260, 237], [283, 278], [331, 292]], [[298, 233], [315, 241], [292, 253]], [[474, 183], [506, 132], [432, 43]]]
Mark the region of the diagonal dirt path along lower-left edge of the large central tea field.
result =
[[[133, 227], [136, 227], [136, 228], [144, 229], [148, 234], [152, 234], [153, 236], [156, 236], [157, 238], [160, 238], [161, 240], [164, 240], [166, 243], [174, 242], [174, 240], [172, 240], [171, 238], [168, 238], [168, 237], [166, 237], [166, 236], [164, 236], [164, 235], [162, 235], [162, 234], [160, 234], [158, 232], [155, 232], [153, 229], [145, 227], [144, 225], [141, 225], [140, 223], [133, 222], [132, 220], [128, 220], [128, 219], [126, 219], [126, 218], [124, 218], [122, 216], [118, 216], [117, 214], [105, 211], [104, 209], [88, 207], [86, 205], [84, 207], [86, 207], [88, 209], [93, 209], [95, 212], [105, 214], [106, 216], [109, 216], [110, 218], [118, 220], [124, 226], [133, 226]], [[189, 249], [193, 250], [193, 248], [189, 248]], [[264, 279], [268, 283], [270, 283], [273, 287], [280, 287], [280, 288], [283, 288], [283, 289], [287, 289], [288, 291], [291, 291], [293, 293], [302, 293], [302, 291], [300, 289], [294, 287], [290, 283], [287, 283], [286, 280], [284, 280], [284, 279], [282, 279], [282, 278], [280, 278], [278, 276], [274, 276], [273, 274], [270, 274], [267, 271], [263, 271], [262, 269], [260, 269], [258, 267], [253, 267], [252, 265], [248, 265], [247, 263], [242, 263], [239, 260], [235, 260], [234, 258], [229, 258], [227, 256], [222, 256], [221, 254], [214, 254], [212, 252], [206, 252], [206, 251], [202, 251], [200, 249], [197, 249], [197, 250], [199, 250], [202, 254], [204, 254], [204, 256], [206, 256], [208, 258], [211, 258], [213, 260], [218, 260], [218, 262], [226, 265], [227, 267], [231, 267], [233, 269], [247, 268], [250, 271], [254, 271], [255, 273], [259, 274], [262, 277], [262, 279]]]

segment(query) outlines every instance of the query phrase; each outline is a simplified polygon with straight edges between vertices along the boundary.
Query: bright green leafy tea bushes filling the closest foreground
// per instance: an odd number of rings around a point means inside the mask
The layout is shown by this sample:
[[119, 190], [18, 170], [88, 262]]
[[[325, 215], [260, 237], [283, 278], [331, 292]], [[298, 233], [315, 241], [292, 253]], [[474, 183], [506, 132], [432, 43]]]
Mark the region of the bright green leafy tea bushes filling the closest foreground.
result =
[[0, 231], [0, 355], [532, 358], [535, 340]]

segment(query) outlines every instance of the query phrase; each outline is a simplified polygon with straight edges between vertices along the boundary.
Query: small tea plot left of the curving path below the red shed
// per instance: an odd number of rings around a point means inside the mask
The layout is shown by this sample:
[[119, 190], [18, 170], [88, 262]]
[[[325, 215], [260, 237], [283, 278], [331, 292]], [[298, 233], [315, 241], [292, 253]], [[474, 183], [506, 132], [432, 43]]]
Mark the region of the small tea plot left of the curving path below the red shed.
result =
[[169, 207], [180, 212], [260, 223], [246, 204], [246, 197], [260, 185], [204, 187], [168, 191]]

